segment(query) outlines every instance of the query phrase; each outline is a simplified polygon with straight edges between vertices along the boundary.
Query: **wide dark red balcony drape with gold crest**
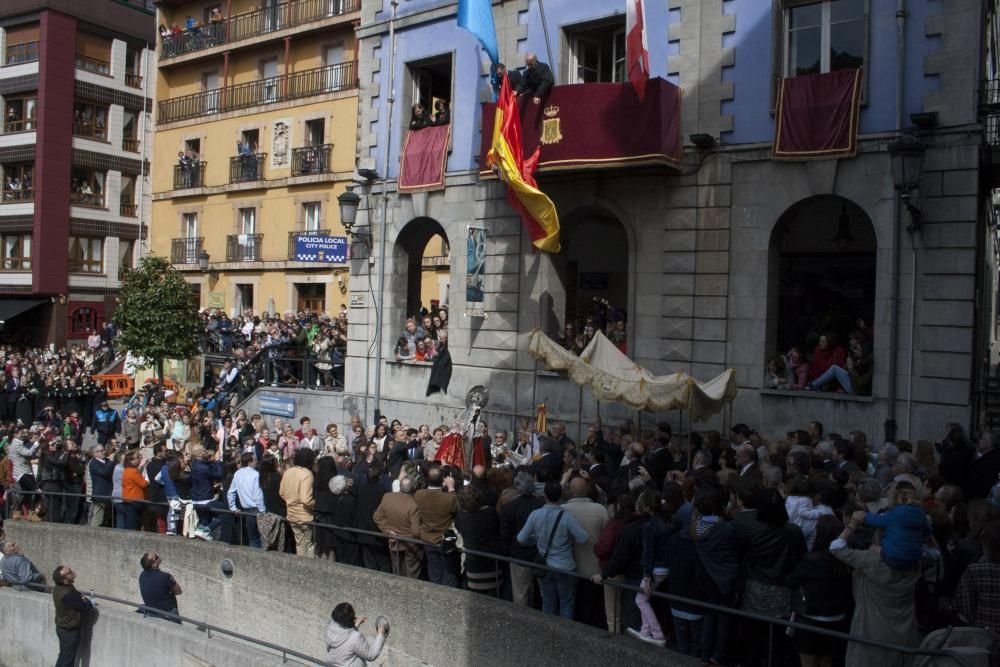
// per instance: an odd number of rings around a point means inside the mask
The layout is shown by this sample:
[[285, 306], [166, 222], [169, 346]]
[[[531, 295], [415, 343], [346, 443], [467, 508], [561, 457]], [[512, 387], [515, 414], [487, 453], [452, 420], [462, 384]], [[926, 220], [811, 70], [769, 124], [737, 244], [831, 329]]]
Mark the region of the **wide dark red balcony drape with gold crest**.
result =
[[[650, 79], [641, 102], [630, 83], [555, 86], [541, 104], [530, 95], [518, 102], [524, 155], [541, 149], [539, 172], [680, 165], [681, 91], [669, 81]], [[483, 105], [480, 176], [493, 175], [486, 154], [495, 112]]]

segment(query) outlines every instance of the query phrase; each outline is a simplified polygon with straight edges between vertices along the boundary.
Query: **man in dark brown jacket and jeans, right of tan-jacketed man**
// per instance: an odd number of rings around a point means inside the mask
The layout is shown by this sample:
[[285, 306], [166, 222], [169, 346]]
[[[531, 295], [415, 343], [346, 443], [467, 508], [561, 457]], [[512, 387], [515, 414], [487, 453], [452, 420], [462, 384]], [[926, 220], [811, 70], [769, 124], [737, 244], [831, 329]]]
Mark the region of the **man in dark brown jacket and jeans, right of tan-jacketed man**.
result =
[[420, 539], [430, 542], [424, 546], [427, 556], [427, 578], [433, 584], [455, 588], [458, 586], [458, 553], [446, 553], [442, 544], [444, 531], [455, 525], [458, 498], [455, 479], [443, 478], [441, 468], [427, 471], [427, 488], [414, 496], [420, 508]]

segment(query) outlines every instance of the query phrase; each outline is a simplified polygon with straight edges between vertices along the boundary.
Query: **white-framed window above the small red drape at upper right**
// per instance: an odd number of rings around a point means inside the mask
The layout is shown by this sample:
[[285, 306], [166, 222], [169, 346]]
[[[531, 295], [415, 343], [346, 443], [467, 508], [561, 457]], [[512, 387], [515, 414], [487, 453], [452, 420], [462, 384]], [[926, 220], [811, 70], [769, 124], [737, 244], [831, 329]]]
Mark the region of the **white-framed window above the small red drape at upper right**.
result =
[[[784, 77], [867, 67], [871, 0], [773, 1], [772, 104]], [[862, 103], [866, 87], [862, 82]]]

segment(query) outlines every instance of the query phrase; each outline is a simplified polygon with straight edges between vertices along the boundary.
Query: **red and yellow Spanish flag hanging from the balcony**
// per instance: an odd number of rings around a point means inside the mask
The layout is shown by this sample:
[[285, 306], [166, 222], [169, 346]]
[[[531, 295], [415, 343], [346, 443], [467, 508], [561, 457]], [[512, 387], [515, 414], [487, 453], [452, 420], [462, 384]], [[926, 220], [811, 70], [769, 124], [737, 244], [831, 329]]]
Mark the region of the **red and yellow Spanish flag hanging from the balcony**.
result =
[[545, 252], [559, 252], [559, 214], [532, 176], [538, 164], [538, 149], [527, 160], [522, 154], [521, 115], [507, 77], [500, 86], [493, 148], [486, 159], [507, 184], [507, 201], [521, 214], [532, 244]]

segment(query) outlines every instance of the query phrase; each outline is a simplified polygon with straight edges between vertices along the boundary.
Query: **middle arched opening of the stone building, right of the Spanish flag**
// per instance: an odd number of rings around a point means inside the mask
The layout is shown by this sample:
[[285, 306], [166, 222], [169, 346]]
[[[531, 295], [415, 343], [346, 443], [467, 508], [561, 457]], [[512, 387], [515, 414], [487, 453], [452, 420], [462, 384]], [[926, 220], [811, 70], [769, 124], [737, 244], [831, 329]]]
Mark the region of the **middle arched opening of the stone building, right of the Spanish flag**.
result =
[[562, 330], [550, 333], [558, 333], [566, 344], [569, 327], [579, 334], [590, 325], [603, 329], [627, 351], [624, 341], [632, 313], [624, 226], [603, 209], [578, 211], [563, 222], [561, 240], [562, 251], [553, 262], [562, 298], [553, 305], [556, 316], [562, 316]]

